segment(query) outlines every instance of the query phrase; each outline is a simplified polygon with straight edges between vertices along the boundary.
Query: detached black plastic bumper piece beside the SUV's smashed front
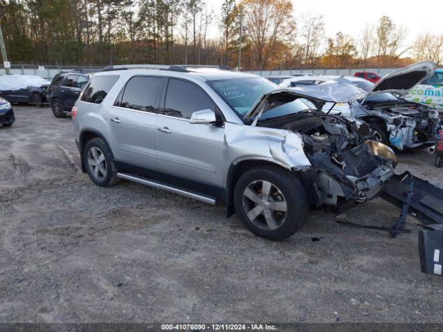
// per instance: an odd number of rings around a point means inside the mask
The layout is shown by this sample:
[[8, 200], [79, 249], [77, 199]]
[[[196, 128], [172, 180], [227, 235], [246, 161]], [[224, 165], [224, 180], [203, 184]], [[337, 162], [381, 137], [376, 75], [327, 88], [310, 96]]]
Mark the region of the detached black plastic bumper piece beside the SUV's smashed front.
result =
[[392, 176], [381, 192], [381, 198], [403, 208], [408, 203], [411, 181], [412, 195], [407, 212], [425, 224], [443, 223], [443, 190], [408, 172]]

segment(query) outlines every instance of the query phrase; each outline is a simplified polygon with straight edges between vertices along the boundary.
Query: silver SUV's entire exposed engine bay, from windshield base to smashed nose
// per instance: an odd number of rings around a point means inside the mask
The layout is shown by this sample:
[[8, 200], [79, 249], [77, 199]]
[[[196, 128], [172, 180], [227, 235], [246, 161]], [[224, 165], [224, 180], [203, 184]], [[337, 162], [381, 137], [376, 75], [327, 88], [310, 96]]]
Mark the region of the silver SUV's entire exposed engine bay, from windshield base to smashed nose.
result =
[[264, 120], [257, 126], [301, 134], [303, 149], [312, 165], [302, 173], [302, 179], [307, 183], [310, 200], [317, 206], [341, 206], [372, 199], [394, 174], [396, 160], [392, 150], [378, 142], [373, 143], [385, 147], [383, 152], [365, 144], [370, 137], [370, 127], [365, 122], [307, 111]]

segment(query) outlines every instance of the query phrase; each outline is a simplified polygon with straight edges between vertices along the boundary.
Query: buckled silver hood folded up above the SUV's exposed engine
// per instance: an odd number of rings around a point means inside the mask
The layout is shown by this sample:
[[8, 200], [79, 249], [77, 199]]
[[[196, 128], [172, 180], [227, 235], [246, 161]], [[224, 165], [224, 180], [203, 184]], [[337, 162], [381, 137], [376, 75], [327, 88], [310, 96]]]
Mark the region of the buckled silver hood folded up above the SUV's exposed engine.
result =
[[246, 113], [244, 120], [251, 120], [254, 116], [257, 116], [252, 124], [255, 126], [257, 120], [266, 108], [266, 102], [271, 99], [275, 100], [275, 98], [281, 98], [286, 102], [304, 98], [313, 102], [318, 111], [320, 111], [327, 102], [348, 103], [365, 98], [365, 96], [365, 91], [354, 85], [334, 81], [325, 82], [319, 85], [278, 89], [264, 93], [264, 95], [255, 102], [251, 110]]

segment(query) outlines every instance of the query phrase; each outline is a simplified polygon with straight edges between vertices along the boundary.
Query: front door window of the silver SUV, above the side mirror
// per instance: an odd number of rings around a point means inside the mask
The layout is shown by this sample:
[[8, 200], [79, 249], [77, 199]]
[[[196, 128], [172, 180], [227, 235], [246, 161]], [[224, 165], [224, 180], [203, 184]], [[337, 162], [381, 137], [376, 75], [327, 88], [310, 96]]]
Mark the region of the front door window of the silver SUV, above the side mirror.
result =
[[190, 119], [192, 113], [203, 109], [215, 112], [215, 105], [198, 86], [182, 80], [169, 80], [165, 116]]

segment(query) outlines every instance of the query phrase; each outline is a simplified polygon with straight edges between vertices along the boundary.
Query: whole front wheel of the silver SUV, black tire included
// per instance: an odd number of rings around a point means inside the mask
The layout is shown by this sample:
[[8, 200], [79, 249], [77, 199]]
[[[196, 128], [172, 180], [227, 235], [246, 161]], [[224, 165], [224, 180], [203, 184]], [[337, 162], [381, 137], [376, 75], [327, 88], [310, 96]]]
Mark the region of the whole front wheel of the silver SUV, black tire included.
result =
[[278, 167], [260, 167], [244, 173], [235, 185], [234, 203], [248, 230], [278, 241], [297, 232], [309, 211], [300, 179]]

